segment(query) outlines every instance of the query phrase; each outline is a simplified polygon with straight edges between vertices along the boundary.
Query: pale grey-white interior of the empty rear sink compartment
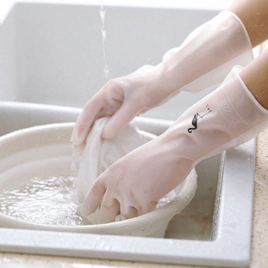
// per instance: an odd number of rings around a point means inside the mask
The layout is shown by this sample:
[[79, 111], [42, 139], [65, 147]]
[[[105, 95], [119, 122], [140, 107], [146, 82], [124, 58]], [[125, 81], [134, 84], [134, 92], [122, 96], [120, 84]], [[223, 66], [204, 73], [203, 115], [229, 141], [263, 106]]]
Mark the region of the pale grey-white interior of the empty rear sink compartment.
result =
[[[0, 100], [82, 107], [106, 82], [99, 4], [78, 2], [17, 3], [5, 16], [0, 37]], [[159, 6], [160, 2], [164, 1], [153, 3]], [[172, 3], [175, 1], [167, 1]], [[106, 6], [105, 10], [110, 78], [128, 74], [144, 64], [157, 64], [168, 49], [178, 46], [192, 29], [217, 13], [115, 6]], [[206, 94], [181, 93], [146, 115], [176, 119]]]

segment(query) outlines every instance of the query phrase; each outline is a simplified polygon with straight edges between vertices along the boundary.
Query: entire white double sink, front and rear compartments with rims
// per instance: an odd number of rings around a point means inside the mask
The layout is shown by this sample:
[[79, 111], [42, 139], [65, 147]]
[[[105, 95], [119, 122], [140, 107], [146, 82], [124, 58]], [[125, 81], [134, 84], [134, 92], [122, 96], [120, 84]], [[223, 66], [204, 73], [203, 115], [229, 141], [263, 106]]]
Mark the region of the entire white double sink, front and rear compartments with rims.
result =
[[[80, 109], [70, 107], [83, 107], [106, 82], [99, 6], [90, 0], [10, 2], [15, 4], [0, 14], [0, 135], [35, 125], [74, 122]], [[218, 13], [120, 4], [105, 11], [110, 78], [157, 64], [168, 49]], [[134, 118], [132, 124], [161, 134], [211, 90], [182, 92], [145, 117]], [[172, 219], [165, 238], [0, 228], [0, 250], [247, 267], [254, 158], [255, 140], [251, 140], [200, 162], [196, 195]]]

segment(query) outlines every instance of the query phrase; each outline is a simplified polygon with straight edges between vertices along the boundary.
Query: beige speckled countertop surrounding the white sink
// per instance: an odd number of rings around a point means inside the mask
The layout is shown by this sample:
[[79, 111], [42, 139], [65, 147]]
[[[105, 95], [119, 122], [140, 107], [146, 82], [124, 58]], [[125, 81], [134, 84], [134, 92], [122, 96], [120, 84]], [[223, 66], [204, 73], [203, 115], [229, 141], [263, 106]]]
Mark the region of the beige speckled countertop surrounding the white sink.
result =
[[[257, 137], [254, 183], [254, 210], [250, 268], [268, 264], [268, 130]], [[97, 259], [51, 257], [0, 253], [1, 268], [191, 268], [192, 266], [157, 265]]]

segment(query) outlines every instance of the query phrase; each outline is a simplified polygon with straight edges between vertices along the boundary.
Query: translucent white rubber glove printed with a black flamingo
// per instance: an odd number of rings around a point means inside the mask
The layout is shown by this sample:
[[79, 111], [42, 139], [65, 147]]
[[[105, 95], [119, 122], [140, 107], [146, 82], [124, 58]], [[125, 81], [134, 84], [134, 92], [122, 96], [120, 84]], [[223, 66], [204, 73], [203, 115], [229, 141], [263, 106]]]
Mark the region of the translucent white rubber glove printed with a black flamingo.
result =
[[191, 106], [164, 134], [103, 172], [87, 193], [83, 215], [101, 204], [98, 222], [152, 211], [202, 159], [242, 144], [267, 127], [268, 110], [252, 96], [235, 66], [223, 84]]

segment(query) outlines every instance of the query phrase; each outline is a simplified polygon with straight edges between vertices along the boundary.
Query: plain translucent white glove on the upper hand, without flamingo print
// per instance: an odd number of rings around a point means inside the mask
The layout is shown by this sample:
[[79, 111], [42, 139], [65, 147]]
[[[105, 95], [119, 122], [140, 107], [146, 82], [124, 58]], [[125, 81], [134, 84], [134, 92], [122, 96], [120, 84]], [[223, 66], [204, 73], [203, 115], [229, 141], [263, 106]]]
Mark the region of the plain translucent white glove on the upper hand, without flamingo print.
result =
[[[110, 117], [102, 136], [115, 136], [135, 115], [161, 104], [179, 89], [196, 92], [218, 85], [232, 66], [252, 59], [251, 44], [241, 20], [230, 11], [195, 29], [178, 49], [155, 68], [110, 80], [79, 115], [72, 135], [81, 144], [96, 119]], [[149, 70], [148, 70], [149, 68]], [[147, 72], [143, 75], [143, 71]]]

